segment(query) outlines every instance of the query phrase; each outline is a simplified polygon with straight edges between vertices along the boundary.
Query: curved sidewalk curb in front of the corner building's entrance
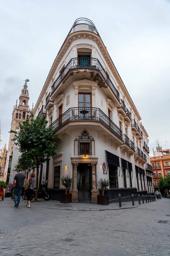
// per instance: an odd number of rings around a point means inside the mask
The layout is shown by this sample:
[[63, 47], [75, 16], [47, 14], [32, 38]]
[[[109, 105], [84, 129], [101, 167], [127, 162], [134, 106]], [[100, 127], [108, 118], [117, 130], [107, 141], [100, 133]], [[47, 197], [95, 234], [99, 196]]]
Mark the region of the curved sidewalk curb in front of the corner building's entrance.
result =
[[109, 211], [109, 210], [124, 210], [124, 209], [132, 209], [139, 207], [139, 205], [131, 206], [131, 207], [122, 207], [122, 208], [52, 208], [52, 207], [40, 207], [46, 209], [56, 209], [56, 210], [67, 210], [67, 211], [79, 211], [79, 212], [93, 212], [93, 211]]

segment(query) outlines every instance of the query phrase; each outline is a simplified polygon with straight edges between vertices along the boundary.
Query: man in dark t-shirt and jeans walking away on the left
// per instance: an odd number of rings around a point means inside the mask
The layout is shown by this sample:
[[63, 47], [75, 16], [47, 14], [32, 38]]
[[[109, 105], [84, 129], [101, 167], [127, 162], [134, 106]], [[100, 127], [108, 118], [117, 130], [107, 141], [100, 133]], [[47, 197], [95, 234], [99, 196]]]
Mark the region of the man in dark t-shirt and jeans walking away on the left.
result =
[[26, 175], [23, 173], [23, 169], [19, 169], [13, 180], [14, 186], [14, 207], [19, 207], [21, 193], [23, 192], [24, 181], [26, 183]]

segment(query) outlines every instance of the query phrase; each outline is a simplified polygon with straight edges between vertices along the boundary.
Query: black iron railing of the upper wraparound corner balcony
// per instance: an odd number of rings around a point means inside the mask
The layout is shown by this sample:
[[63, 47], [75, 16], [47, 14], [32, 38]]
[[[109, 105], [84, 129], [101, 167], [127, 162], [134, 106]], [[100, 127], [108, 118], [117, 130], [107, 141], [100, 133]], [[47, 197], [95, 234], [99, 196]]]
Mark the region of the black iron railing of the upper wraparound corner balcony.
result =
[[119, 92], [116, 90], [113, 82], [109, 78], [108, 74], [106, 73], [105, 69], [100, 64], [99, 60], [96, 58], [72, 58], [68, 64], [65, 66], [62, 73], [58, 76], [56, 81], [54, 81], [51, 87], [51, 93], [57, 88], [60, 84], [62, 79], [68, 74], [70, 70], [74, 69], [81, 69], [81, 68], [90, 68], [93, 70], [99, 70], [103, 78], [105, 79], [106, 83], [109, 85], [113, 93], [115, 94], [116, 98], [119, 100]]

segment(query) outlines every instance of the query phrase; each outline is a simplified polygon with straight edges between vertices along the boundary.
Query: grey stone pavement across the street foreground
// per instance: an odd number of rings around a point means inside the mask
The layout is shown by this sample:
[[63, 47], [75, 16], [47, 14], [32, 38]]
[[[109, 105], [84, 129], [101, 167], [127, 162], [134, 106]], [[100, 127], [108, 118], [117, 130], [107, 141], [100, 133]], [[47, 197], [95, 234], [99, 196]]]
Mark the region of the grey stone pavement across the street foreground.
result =
[[1, 256], [170, 256], [167, 198], [131, 209], [88, 212], [43, 208], [42, 202], [14, 209], [10, 203], [0, 202], [0, 218], [11, 225], [0, 232]]

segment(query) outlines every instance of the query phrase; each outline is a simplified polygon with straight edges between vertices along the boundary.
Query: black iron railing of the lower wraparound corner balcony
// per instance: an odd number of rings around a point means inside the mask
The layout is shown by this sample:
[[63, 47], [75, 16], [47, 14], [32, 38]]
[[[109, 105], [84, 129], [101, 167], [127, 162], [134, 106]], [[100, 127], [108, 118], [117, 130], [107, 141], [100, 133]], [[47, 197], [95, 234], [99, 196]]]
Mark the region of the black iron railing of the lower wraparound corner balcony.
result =
[[101, 122], [113, 134], [122, 140], [122, 131], [115, 125], [111, 119], [99, 108], [69, 108], [59, 118], [54, 121], [51, 126], [57, 131], [59, 128], [73, 121], [96, 121]]

